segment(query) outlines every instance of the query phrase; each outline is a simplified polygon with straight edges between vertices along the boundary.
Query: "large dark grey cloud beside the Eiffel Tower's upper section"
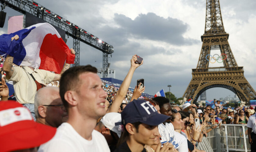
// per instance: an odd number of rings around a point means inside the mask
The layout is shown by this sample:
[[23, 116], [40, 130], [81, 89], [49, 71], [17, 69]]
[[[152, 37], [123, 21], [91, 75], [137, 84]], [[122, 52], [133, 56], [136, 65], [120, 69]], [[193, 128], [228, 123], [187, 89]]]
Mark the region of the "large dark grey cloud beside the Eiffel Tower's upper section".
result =
[[135, 38], [164, 41], [174, 45], [191, 45], [199, 42], [182, 36], [189, 26], [179, 19], [165, 19], [155, 13], [148, 13], [139, 14], [134, 20], [122, 14], [115, 14], [114, 20], [127, 34]]

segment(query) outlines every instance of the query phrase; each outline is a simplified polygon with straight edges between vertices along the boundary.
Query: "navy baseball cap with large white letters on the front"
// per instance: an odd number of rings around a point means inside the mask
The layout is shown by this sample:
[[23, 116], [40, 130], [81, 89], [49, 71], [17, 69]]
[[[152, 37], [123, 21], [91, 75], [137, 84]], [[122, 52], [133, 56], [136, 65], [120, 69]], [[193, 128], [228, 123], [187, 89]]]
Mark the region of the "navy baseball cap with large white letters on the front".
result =
[[146, 100], [133, 100], [128, 103], [121, 113], [122, 123], [144, 123], [151, 126], [157, 126], [171, 117], [159, 114], [155, 107]]

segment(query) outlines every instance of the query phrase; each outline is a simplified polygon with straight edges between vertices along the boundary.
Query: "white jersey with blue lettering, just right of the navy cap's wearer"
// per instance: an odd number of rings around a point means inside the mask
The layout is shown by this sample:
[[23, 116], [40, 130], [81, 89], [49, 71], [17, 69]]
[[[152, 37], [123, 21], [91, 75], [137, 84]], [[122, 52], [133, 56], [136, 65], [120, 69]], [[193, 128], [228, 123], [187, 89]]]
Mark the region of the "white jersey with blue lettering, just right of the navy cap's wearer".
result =
[[178, 148], [179, 144], [176, 142], [175, 139], [175, 135], [174, 135], [174, 128], [172, 123], [165, 123], [165, 125], [163, 123], [158, 125], [158, 132], [160, 133], [160, 135], [162, 136], [160, 138], [160, 142], [166, 143], [172, 143], [172, 145], [174, 146], [174, 148]]

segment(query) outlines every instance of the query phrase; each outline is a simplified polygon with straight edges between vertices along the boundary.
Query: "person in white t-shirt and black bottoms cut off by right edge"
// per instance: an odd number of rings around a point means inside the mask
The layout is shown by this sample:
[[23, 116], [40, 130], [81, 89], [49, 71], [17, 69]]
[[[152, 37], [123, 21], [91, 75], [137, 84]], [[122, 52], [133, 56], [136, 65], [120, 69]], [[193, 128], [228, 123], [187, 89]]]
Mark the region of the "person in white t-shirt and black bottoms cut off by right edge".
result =
[[[254, 111], [256, 111], [256, 106]], [[248, 140], [251, 144], [251, 151], [256, 149], [256, 114], [254, 112], [248, 119], [247, 127], [248, 127]]]

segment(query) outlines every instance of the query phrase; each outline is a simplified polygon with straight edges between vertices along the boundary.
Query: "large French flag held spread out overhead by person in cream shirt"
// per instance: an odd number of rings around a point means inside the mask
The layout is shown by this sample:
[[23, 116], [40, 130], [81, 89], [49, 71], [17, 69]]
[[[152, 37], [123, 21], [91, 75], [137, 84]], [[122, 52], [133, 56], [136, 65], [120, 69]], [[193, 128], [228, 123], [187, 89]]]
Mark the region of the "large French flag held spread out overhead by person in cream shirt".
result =
[[[15, 35], [19, 36], [19, 40], [11, 41], [11, 37]], [[3, 54], [12, 56], [16, 65], [54, 71], [58, 74], [67, 56], [75, 57], [57, 30], [49, 23], [38, 23], [15, 33], [1, 35], [0, 55]]]

